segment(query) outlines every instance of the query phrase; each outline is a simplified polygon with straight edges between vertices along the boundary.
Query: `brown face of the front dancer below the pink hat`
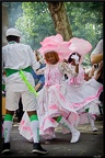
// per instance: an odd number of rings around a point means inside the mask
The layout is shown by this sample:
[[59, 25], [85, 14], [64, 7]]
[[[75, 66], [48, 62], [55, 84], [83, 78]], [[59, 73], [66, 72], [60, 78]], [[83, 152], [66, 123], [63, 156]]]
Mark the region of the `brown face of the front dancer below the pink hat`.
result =
[[47, 61], [48, 64], [50, 64], [50, 65], [55, 65], [55, 64], [57, 63], [56, 57], [55, 57], [55, 54], [52, 54], [52, 53], [47, 53], [47, 54], [45, 55], [45, 59], [46, 59], [46, 61]]

